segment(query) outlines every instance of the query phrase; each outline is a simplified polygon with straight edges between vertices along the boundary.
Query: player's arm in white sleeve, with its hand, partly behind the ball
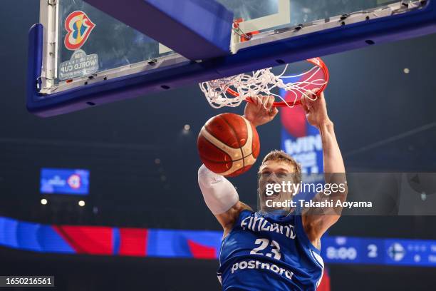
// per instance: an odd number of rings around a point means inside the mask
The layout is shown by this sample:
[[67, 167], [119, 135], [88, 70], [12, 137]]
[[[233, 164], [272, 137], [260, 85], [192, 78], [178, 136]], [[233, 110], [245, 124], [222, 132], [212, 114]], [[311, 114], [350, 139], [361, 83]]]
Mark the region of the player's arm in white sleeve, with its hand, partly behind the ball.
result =
[[[255, 96], [247, 103], [244, 118], [254, 126], [268, 123], [278, 113], [277, 108], [272, 107], [273, 102], [273, 96]], [[237, 190], [227, 178], [212, 172], [205, 165], [198, 170], [198, 183], [204, 202], [222, 225], [226, 236], [232, 230], [239, 213], [251, 208], [239, 201]]]

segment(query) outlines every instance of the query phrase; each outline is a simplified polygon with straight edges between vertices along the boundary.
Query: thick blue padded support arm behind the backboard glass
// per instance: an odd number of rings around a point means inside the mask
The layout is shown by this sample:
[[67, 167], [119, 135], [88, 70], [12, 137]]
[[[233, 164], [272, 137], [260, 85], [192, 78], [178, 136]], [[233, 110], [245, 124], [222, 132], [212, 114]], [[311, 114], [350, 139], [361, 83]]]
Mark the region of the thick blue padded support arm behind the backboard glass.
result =
[[85, 1], [190, 60], [229, 54], [233, 13], [216, 1]]

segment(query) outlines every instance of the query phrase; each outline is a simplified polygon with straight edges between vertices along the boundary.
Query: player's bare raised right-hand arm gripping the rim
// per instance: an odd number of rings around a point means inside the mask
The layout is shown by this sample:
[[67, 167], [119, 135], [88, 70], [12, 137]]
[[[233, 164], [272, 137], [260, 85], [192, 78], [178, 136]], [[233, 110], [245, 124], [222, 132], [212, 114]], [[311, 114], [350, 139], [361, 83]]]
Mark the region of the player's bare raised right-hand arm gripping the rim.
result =
[[306, 111], [308, 123], [316, 126], [321, 134], [323, 145], [324, 180], [326, 184], [342, 184], [344, 190], [326, 193], [318, 193], [313, 200], [330, 200], [333, 202], [331, 208], [310, 208], [303, 213], [303, 225], [312, 242], [318, 242], [323, 233], [328, 230], [341, 216], [342, 208], [335, 207], [336, 201], [346, 200], [348, 188], [346, 187], [345, 166], [341, 150], [336, 141], [333, 122], [327, 115], [326, 100], [323, 93], [316, 101], [302, 98], [303, 108]]

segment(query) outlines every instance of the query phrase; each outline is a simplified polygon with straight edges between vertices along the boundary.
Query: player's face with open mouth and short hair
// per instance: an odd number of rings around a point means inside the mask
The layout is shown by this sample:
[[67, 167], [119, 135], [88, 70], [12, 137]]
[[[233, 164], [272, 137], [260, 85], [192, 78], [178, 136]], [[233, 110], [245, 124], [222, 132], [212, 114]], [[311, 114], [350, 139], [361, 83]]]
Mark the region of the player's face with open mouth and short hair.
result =
[[293, 183], [293, 173], [295, 172], [295, 167], [284, 161], [268, 160], [261, 165], [259, 169], [259, 200], [261, 210], [290, 210], [289, 207], [277, 204], [294, 198], [293, 188], [288, 187], [288, 185], [289, 182]]

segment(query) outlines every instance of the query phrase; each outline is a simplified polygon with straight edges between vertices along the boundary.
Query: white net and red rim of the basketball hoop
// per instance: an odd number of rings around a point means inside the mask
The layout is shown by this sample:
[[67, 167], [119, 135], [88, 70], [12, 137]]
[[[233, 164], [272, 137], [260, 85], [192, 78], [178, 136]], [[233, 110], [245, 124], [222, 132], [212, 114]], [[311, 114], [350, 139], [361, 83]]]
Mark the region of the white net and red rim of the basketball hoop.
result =
[[[224, 106], [237, 107], [242, 101], [251, 102], [251, 96], [276, 96], [281, 101], [274, 102], [276, 107], [294, 107], [301, 104], [301, 98], [312, 101], [321, 94], [328, 84], [328, 68], [321, 58], [309, 58], [308, 63], [313, 67], [304, 73], [294, 76], [284, 76], [284, 70], [279, 75], [271, 72], [272, 68], [264, 68], [251, 73], [242, 73], [229, 78], [199, 83], [204, 96], [213, 108]], [[271, 91], [281, 88], [289, 92], [286, 98]], [[316, 94], [313, 95], [313, 91]]]

